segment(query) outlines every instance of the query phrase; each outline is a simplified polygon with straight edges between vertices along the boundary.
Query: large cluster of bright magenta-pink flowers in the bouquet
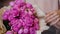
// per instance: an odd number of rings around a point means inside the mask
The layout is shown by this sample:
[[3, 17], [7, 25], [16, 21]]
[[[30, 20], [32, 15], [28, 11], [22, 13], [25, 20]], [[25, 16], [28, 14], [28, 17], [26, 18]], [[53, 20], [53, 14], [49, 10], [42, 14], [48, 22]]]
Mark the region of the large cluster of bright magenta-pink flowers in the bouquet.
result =
[[3, 20], [10, 21], [11, 31], [18, 34], [36, 34], [36, 31], [39, 30], [39, 21], [34, 15], [33, 6], [26, 3], [25, 0], [15, 0], [10, 2], [10, 5], [12, 8], [5, 11]]

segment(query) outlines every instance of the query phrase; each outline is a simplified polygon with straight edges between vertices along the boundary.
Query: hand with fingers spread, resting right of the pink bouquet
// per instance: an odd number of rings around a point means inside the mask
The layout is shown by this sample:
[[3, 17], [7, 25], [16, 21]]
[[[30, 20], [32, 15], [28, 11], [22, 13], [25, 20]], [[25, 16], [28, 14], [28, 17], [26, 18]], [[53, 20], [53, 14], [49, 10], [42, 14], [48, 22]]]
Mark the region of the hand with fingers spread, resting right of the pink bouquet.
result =
[[55, 25], [56, 23], [60, 22], [59, 15], [55, 11], [51, 11], [46, 13], [46, 23], [50, 23], [50, 25]]

